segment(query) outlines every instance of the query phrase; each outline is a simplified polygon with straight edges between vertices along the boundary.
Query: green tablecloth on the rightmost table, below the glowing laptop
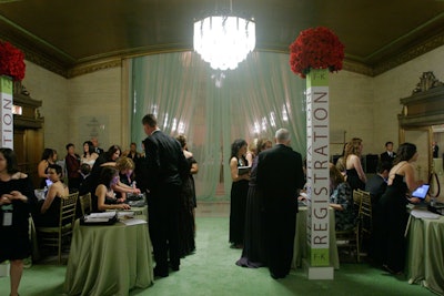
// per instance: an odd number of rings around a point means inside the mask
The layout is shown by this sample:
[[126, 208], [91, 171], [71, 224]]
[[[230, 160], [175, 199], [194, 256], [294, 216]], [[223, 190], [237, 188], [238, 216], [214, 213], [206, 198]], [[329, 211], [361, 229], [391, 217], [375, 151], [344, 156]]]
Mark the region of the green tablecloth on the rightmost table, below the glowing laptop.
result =
[[408, 283], [444, 295], [444, 216], [410, 217], [406, 273]]

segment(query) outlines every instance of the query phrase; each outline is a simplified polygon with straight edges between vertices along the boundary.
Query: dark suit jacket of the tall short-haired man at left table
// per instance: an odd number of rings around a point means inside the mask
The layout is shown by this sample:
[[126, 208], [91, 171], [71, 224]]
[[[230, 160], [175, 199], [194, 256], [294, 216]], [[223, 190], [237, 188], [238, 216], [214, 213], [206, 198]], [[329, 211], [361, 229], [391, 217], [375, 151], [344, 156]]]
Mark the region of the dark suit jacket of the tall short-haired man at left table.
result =
[[180, 143], [161, 131], [154, 131], [144, 141], [148, 190], [155, 193], [164, 185], [182, 185], [188, 176], [188, 162]]

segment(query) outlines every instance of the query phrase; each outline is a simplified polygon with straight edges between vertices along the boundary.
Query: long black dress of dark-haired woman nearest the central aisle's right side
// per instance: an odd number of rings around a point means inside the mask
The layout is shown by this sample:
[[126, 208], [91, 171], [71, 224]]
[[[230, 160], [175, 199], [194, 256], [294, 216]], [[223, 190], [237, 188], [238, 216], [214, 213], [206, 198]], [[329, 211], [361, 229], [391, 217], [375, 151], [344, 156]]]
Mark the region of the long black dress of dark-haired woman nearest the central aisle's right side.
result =
[[[238, 166], [242, 166], [239, 161]], [[231, 185], [230, 243], [238, 246], [243, 244], [248, 192], [249, 181], [246, 180], [233, 182]]]

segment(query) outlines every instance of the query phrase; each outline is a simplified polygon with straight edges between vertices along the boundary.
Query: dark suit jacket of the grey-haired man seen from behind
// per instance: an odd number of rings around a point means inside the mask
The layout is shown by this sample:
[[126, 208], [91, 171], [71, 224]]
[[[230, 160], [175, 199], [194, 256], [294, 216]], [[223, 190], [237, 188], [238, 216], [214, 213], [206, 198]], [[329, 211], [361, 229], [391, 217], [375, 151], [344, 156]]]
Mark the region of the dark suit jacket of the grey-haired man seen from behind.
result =
[[301, 154], [283, 144], [261, 152], [256, 181], [264, 192], [265, 211], [297, 207], [297, 191], [304, 185]]

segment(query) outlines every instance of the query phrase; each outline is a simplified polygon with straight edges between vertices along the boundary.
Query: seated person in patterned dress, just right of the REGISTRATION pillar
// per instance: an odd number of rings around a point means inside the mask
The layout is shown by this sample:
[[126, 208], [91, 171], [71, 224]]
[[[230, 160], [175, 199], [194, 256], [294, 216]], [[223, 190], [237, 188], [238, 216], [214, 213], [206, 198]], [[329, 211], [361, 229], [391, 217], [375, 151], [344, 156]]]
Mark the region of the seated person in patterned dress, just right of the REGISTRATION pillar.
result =
[[330, 206], [334, 208], [336, 231], [347, 231], [355, 226], [352, 188], [340, 170], [330, 163]]

